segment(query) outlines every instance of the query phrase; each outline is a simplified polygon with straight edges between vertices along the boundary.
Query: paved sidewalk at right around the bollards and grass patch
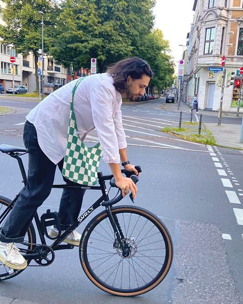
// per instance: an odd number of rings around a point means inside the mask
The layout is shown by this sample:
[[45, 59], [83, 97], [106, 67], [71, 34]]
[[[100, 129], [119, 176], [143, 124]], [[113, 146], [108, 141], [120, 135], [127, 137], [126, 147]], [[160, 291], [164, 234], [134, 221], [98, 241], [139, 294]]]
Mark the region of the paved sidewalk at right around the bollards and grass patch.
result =
[[[189, 106], [185, 103], [180, 104], [180, 109], [177, 109], [177, 103], [164, 103], [161, 105], [162, 109], [165, 109], [167, 111], [183, 111], [183, 112], [189, 112]], [[243, 143], [241, 144], [239, 142], [240, 138], [240, 130], [241, 125], [238, 124], [222, 124], [220, 126], [217, 125], [217, 117], [218, 112], [211, 112], [211, 111], [203, 111], [199, 110], [199, 113], [202, 115], [210, 115], [215, 116], [215, 123], [205, 123], [206, 127], [210, 130], [212, 133], [216, 143], [220, 146], [230, 147], [230, 148], [236, 148], [236, 149], [243, 149]], [[222, 113], [223, 117], [236, 117], [235, 113]], [[240, 117], [242, 117], [242, 114], [240, 114]]]

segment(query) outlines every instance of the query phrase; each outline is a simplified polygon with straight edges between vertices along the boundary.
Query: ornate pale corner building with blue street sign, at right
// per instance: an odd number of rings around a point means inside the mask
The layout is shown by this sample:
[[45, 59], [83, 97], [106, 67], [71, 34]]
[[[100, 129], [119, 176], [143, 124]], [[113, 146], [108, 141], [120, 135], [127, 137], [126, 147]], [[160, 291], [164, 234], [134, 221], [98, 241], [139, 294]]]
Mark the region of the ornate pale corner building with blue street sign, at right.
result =
[[[199, 109], [218, 110], [222, 55], [240, 78], [243, 66], [243, 0], [195, 0], [188, 35], [187, 99], [198, 93]], [[223, 111], [236, 112], [239, 88], [225, 87]]]

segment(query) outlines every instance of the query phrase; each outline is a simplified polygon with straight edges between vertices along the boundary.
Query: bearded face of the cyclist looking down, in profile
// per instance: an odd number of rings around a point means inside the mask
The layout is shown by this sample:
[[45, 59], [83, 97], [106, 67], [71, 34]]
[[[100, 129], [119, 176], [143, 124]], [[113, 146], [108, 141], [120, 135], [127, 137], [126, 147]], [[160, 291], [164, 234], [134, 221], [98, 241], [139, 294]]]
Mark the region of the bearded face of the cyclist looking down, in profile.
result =
[[131, 76], [128, 76], [125, 88], [126, 97], [129, 100], [134, 101], [139, 95], [144, 95], [149, 82], [150, 77], [146, 74], [144, 74], [140, 79], [132, 79]]

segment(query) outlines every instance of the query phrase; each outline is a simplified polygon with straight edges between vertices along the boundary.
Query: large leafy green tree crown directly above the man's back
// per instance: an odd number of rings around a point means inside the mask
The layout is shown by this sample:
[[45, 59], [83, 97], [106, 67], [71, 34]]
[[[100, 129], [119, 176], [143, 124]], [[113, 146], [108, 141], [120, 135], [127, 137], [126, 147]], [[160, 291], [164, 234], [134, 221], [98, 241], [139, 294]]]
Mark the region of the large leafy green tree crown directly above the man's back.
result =
[[[154, 0], [66, 0], [56, 27], [51, 54], [65, 66], [90, 66], [99, 72], [133, 55], [136, 43], [153, 27]], [[143, 16], [143, 22], [141, 22]]]

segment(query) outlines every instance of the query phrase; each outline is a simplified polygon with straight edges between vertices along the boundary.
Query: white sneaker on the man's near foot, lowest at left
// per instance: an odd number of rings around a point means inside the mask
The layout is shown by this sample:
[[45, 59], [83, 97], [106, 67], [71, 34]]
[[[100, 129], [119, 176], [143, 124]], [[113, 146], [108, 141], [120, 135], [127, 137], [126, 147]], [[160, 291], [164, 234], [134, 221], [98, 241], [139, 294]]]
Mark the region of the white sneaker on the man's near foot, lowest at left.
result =
[[0, 244], [0, 260], [9, 268], [22, 270], [27, 267], [26, 259], [14, 243]]

